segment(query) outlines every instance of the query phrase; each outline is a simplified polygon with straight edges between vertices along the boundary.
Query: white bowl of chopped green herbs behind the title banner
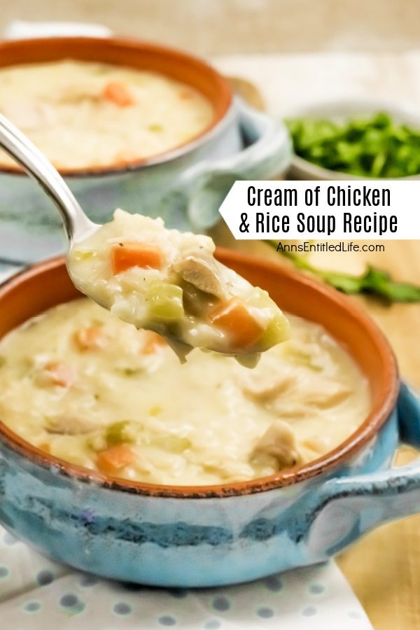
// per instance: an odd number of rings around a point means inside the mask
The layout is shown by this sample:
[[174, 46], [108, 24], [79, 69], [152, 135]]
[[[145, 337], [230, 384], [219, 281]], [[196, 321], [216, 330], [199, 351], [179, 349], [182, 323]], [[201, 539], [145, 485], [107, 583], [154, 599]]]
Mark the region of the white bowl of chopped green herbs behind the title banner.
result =
[[290, 179], [420, 179], [420, 115], [395, 103], [316, 103], [286, 119]]

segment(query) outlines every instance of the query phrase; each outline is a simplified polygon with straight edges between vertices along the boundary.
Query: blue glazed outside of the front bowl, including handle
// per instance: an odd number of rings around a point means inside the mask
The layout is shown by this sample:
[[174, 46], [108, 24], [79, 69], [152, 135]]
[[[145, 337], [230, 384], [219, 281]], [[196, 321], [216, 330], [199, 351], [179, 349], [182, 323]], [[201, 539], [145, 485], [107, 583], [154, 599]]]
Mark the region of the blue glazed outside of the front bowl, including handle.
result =
[[146, 496], [75, 479], [0, 444], [0, 521], [73, 567], [172, 587], [244, 582], [325, 561], [361, 534], [420, 511], [420, 465], [390, 468], [400, 439], [420, 444], [420, 402], [402, 385], [381, 430], [342, 465], [260, 493]]

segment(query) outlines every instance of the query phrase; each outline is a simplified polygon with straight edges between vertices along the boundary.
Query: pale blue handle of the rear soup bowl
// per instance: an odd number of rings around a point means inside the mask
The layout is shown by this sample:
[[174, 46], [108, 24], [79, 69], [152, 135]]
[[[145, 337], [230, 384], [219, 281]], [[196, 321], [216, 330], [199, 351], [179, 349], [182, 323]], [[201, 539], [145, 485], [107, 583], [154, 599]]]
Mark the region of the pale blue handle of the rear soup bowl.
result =
[[292, 143], [286, 125], [239, 97], [235, 97], [235, 109], [244, 148], [193, 165], [179, 181], [188, 195], [188, 218], [195, 230], [206, 230], [220, 219], [218, 209], [235, 181], [274, 178], [290, 164]]

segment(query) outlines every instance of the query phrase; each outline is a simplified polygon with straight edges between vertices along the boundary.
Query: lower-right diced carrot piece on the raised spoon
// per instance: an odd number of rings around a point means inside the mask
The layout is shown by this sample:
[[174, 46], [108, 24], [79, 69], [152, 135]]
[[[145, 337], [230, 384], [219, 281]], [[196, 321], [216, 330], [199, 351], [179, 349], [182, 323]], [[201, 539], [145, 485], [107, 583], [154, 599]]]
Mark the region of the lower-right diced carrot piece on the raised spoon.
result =
[[226, 332], [237, 348], [246, 348], [262, 335], [262, 328], [238, 297], [232, 297], [212, 311], [210, 321]]

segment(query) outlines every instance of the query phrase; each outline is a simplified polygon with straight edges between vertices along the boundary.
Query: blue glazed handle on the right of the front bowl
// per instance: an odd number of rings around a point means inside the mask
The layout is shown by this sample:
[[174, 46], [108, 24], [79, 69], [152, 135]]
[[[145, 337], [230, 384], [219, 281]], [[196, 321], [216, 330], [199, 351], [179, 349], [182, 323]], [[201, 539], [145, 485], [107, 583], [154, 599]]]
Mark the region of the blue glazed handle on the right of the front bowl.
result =
[[[420, 398], [405, 384], [397, 413], [400, 439], [419, 447]], [[306, 508], [308, 544], [313, 552], [322, 549], [330, 556], [382, 523], [420, 512], [420, 458], [398, 468], [330, 479]]]

